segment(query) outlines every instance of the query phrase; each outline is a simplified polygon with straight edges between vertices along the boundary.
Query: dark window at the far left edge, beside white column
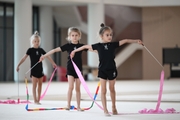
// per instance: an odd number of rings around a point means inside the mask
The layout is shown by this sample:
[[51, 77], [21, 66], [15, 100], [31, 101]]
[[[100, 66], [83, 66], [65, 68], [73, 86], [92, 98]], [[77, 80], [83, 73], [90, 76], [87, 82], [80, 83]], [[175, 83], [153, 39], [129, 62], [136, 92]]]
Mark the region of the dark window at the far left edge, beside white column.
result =
[[14, 5], [0, 2], [0, 81], [13, 81]]

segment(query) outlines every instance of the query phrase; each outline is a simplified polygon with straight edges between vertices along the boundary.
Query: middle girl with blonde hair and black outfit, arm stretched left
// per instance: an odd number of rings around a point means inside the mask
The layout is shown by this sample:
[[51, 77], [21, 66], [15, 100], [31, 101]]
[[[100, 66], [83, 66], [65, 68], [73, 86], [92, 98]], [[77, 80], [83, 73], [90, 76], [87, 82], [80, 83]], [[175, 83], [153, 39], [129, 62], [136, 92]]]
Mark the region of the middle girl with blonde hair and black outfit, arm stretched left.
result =
[[[77, 110], [78, 111], [84, 111], [80, 107], [80, 99], [81, 99], [81, 90], [80, 90], [80, 80], [74, 70], [74, 67], [71, 62], [70, 58], [70, 53], [71, 51], [83, 46], [84, 44], [80, 43], [81, 39], [81, 31], [76, 28], [76, 27], [70, 27], [68, 29], [68, 37], [67, 40], [69, 41], [67, 44], [57, 47], [45, 55], [43, 55], [40, 58], [40, 61], [42, 61], [45, 57], [55, 53], [55, 52], [64, 52], [67, 51], [68, 53], [68, 60], [67, 60], [67, 78], [68, 78], [68, 83], [69, 83], [69, 88], [68, 88], [68, 94], [67, 94], [67, 108], [66, 110], [70, 110], [71, 107], [71, 99], [72, 99], [72, 93], [74, 89], [74, 84], [75, 84], [75, 90], [76, 90], [76, 101], [77, 101]], [[74, 56], [73, 61], [76, 63], [80, 71], [82, 71], [82, 51], [77, 52], [77, 54]]]

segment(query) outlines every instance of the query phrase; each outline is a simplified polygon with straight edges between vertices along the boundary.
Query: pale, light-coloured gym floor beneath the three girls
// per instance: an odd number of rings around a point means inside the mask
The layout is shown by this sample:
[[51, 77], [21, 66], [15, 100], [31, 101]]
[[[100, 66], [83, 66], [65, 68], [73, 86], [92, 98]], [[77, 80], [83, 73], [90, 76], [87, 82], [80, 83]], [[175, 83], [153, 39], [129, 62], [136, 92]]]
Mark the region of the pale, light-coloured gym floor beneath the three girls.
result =
[[[87, 82], [88, 88], [94, 95], [98, 81]], [[18, 89], [19, 86], [19, 89]], [[45, 90], [47, 82], [43, 83]], [[28, 83], [30, 101], [32, 101], [32, 84]], [[29, 104], [29, 108], [57, 108], [66, 107], [67, 82], [52, 82], [41, 101], [42, 105]], [[20, 101], [26, 100], [25, 83], [0, 83], [0, 100], [7, 99], [17, 100], [18, 91]], [[96, 105], [85, 112], [75, 110], [49, 110], [49, 111], [33, 111], [25, 110], [26, 104], [0, 104], [0, 120], [179, 120], [180, 114], [138, 114], [139, 110], [144, 108], [155, 109], [159, 92], [159, 80], [135, 80], [135, 81], [117, 81], [116, 82], [116, 98], [117, 109], [119, 113], [127, 113], [124, 115], [116, 115], [106, 117], [103, 111]], [[81, 107], [89, 107], [92, 103], [83, 86], [81, 86], [82, 101]], [[100, 102], [100, 90], [97, 96], [97, 102]], [[109, 91], [107, 93], [108, 109], [111, 111], [111, 101]], [[76, 106], [75, 92], [73, 93], [72, 105]], [[161, 109], [174, 108], [180, 112], [180, 79], [165, 80], [164, 90], [161, 101]]]

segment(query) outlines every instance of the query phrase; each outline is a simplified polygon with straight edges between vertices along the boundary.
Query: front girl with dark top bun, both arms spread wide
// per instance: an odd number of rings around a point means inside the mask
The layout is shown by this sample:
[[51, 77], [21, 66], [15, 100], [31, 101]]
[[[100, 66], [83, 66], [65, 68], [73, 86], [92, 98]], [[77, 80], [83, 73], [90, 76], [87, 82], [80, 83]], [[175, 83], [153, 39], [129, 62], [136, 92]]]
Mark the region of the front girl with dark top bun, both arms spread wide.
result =
[[115, 58], [115, 49], [125, 43], [139, 43], [142, 44], [141, 40], [133, 39], [123, 39], [118, 42], [112, 42], [113, 31], [110, 27], [101, 24], [101, 29], [99, 30], [100, 38], [102, 39], [101, 43], [96, 43], [92, 45], [84, 45], [71, 52], [71, 58], [74, 57], [76, 52], [79, 52], [84, 49], [89, 49], [91, 51], [98, 52], [99, 56], [99, 67], [98, 67], [98, 77], [101, 82], [101, 101], [104, 108], [104, 114], [110, 116], [107, 109], [107, 100], [106, 100], [106, 84], [109, 81], [109, 90], [112, 101], [112, 113], [117, 115], [116, 109], [116, 91], [115, 91], [115, 82], [117, 77], [117, 68], [114, 61]]

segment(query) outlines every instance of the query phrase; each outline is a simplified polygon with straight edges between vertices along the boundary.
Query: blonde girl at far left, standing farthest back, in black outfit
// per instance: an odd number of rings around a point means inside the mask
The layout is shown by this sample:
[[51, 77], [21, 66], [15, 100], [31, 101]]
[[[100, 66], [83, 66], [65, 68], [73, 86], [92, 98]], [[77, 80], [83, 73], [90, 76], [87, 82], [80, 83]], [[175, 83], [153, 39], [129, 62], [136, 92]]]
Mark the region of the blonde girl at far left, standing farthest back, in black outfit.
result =
[[[46, 53], [44, 49], [40, 48], [41, 38], [37, 31], [31, 36], [30, 43], [31, 43], [31, 48], [27, 50], [26, 54], [20, 60], [16, 68], [17, 71], [19, 71], [20, 65], [26, 60], [28, 56], [30, 57], [31, 67], [33, 67], [36, 63], [38, 63], [41, 55]], [[54, 61], [50, 57], [48, 57], [48, 59], [52, 63], [53, 67], [56, 67]], [[43, 73], [42, 62], [39, 62], [36, 66], [34, 66], [31, 69], [31, 74], [30, 74], [33, 83], [32, 93], [33, 93], [34, 103], [39, 105], [41, 104], [40, 97], [41, 97], [43, 76], [44, 73]], [[36, 89], [37, 89], [37, 93], [36, 93]]]

